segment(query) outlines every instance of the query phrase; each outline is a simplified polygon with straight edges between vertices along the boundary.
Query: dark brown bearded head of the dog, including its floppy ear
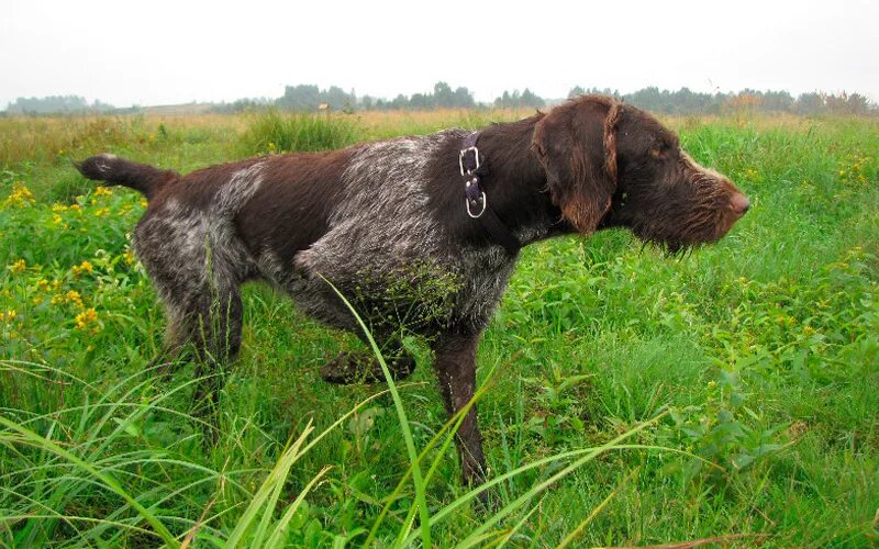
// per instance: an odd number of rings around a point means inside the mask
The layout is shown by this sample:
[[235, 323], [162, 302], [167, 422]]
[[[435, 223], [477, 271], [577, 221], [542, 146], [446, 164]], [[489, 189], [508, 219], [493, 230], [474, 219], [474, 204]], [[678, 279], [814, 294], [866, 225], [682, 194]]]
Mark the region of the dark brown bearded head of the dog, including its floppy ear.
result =
[[735, 184], [690, 158], [672, 132], [611, 98], [553, 109], [537, 122], [533, 147], [553, 202], [583, 234], [624, 226], [677, 251], [719, 239], [748, 209]]

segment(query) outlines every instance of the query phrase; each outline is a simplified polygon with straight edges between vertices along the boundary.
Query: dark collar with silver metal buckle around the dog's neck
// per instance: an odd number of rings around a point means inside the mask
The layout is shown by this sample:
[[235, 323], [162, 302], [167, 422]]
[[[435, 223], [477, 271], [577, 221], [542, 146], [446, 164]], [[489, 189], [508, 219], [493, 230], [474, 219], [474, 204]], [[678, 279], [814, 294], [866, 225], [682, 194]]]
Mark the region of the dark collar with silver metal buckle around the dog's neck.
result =
[[464, 203], [467, 215], [481, 223], [482, 228], [493, 240], [503, 246], [508, 254], [515, 256], [522, 249], [522, 243], [513, 235], [507, 225], [498, 217], [488, 205], [486, 191], [482, 190], [481, 176], [478, 170], [483, 161], [479, 158], [479, 149], [476, 142], [479, 139], [479, 132], [472, 132], [464, 138], [460, 153], [458, 154], [458, 168], [464, 178]]

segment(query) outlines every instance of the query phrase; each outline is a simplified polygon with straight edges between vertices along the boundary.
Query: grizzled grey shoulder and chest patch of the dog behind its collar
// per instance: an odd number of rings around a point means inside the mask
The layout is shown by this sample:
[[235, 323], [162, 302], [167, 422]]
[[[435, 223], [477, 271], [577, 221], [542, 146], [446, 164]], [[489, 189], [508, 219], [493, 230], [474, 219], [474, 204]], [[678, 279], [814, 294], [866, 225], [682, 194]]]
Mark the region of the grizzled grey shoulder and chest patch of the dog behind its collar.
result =
[[331, 216], [331, 229], [293, 257], [283, 284], [305, 312], [351, 327], [351, 315], [325, 278], [372, 325], [402, 323], [420, 332], [487, 322], [514, 261], [500, 247], [449, 245], [426, 192], [427, 163], [449, 138], [460, 136], [372, 144], [354, 156], [343, 175], [346, 199]]

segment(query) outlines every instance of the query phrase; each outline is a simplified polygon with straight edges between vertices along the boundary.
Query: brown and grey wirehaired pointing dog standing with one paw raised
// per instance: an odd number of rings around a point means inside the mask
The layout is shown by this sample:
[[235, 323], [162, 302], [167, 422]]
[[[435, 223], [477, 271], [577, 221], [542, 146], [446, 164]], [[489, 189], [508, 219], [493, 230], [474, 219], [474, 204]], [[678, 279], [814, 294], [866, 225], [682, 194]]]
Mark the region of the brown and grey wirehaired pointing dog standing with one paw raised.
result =
[[[146, 195], [133, 247], [166, 309], [166, 351], [194, 344], [199, 376], [237, 354], [240, 288], [251, 280], [359, 333], [332, 282], [385, 341], [396, 378], [414, 368], [401, 334], [430, 341], [449, 414], [474, 396], [477, 347], [522, 246], [627, 227], [674, 254], [717, 240], [749, 206], [656, 119], [602, 96], [478, 132], [271, 155], [187, 176], [107, 154], [77, 168]], [[322, 373], [351, 382], [370, 371], [366, 354], [343, 354]], [[215, 404], [219, 391], [208, 381], [196, 397]], [[475, 405], [456, 446], [465, 484], [483, 482]]]

